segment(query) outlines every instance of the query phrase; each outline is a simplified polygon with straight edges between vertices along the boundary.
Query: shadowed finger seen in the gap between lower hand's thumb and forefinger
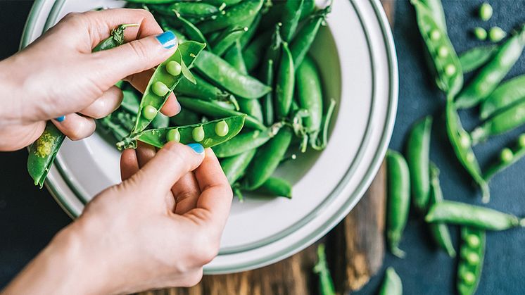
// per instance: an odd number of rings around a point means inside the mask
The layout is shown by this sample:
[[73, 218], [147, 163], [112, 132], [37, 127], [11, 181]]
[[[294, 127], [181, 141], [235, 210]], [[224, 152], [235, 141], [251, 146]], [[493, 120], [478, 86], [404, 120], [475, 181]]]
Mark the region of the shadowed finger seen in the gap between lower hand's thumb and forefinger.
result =
[[173, 186], [172, 193], [175, 196], [175, 213], [183, 215], [184, 213], [195, 208], [198, 196], [201, 190], [198, 189], [198, 183], [195, 179], [194, 172], [186, 173]]

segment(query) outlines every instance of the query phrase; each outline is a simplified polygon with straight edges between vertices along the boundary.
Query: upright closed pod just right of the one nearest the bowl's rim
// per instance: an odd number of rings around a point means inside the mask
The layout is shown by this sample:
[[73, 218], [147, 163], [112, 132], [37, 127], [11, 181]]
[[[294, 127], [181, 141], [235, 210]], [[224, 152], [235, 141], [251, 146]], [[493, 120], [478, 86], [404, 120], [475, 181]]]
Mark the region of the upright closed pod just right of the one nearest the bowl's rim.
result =
[[407, 140], [407, 163], [410, 168], [412, 184], [412, 203], [419, 212], [426, 212], [429, 207], [429, 153], [432, 117], [419, 120], [410, 130]]

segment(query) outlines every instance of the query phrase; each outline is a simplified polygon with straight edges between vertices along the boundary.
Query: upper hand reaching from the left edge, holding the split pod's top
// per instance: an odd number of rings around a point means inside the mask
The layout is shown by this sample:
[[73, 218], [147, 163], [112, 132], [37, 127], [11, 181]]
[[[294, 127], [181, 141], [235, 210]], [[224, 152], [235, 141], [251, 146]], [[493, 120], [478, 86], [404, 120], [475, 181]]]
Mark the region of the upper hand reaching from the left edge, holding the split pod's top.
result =
[[[122, 23], [126, 44], [108, 51], [91, 49]], [[152, 68], [170, 57], [155, 36], [163, 33], [153, 15], [141, 9], [70, 13], [18, 54], [0, 62], [0, 151], [23, 148], [52, 120], [70, 139], [88, 137], [93, 118], [102, 118], [122, 101], [113, 85], [125, 79], [144, 91]], [[177, 42], [175, 42], [177, 43]], [[171, 95], [161, 110], [172, 116], [180, 106]]]

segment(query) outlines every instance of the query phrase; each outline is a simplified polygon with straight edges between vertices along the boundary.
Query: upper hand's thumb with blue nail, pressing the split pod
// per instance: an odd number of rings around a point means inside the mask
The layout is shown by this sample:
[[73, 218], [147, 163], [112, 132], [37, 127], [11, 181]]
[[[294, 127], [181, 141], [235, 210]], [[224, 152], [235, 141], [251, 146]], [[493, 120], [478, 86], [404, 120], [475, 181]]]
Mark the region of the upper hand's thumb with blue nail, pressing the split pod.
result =
[[129, 75], [156, 67], [177, 49], [177, 37], [171, 31], [122, 44], [114, 49], [91, 54], [99, 63], [96, 73], [102, 81], [115, 84]]

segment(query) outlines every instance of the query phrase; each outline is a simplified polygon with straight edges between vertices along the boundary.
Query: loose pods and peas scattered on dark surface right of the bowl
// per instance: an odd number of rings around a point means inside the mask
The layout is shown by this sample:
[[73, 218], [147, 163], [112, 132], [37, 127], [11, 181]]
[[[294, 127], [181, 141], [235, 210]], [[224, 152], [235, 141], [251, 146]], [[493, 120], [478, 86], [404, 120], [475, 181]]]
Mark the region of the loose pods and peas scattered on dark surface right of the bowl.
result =
[[[490, 45], [456, 54], [447, 33], [445, 13], [441, 0], [411, 0], [436, 86], [445, 94], [446, 131], [455, 156], [472, 180], [481, 189], [483, 203], [488, 203], [488, 182], [496, 173], [519, 161], [525, 155], [525, 134], [514, 146], [502, 149], [497, 161], [481, 168], [472, 146], [490, 137], [503, 134], [525, 123], [525, 75], [503, 81], [525, 47], [525, 24], [511, 34], [499, 27], [488, 32], [475, 27], [477, 39], [489, 39]], [[490, 4], [479, 7], [479, 18], [488, 20], [493, 10]], [[505, 37], [507, 37], [505, 39]], [[464, 73], [473, 72], [474, 78], [464, 84]], [[480, 125], [471, 132], [464, 130], [458, 109], [479, 106]], [[461, 245], [457, 263], [457, 293], [474, 294], [481, 277], [485, 254], [486, 231], [524, 227], [525, 220], [495, 211], [485, 206], [446, 201], [439, 183], [439, 169], [429, 158], [432, 117], [426, 116], [412, 126], [407, 138], [405, 156], [388, 151], [388, 206], [386, 237], [391, 253], [403, 258], [399, 249], [409, 209], [424, 216], [436, 245], [450, 257], [456, 256], [448, 225], [459, 225]], [[406, 158], [405, 158], [406, 157]], [[400, 285], [393, 270], [385, 277], [384, 286]], [[383, 289], [381, 289], [383, 290]], [[401, 294], [394, 287], [381, 294]]]

